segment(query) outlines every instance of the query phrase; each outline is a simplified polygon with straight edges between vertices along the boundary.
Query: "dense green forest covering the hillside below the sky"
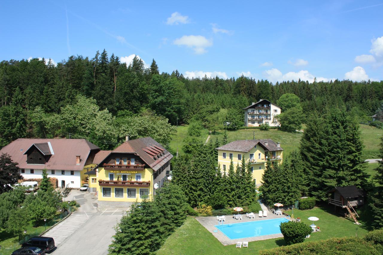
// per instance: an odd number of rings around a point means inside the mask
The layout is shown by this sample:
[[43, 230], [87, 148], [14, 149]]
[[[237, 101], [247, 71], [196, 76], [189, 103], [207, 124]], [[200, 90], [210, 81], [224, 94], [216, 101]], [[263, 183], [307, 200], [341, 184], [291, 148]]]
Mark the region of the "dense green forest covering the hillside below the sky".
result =
[[126, 65], [105, 49], [57, 65], [50, 59], [3, 60], [0, 84], [0, 147], [20, 137], [71, 136], [111, 149], [125, 135], [137, 138], [147, 130], [167, 144], [176, 124], [199, 121], [215, 130], [229, 123], [228, 129], [237, 129], [243, 125], [242, 108], [260, 98], [277, 102], [285, 93], [300, 98], [306, 116], [344, 108], [367, 122], [383, 99], [383, 81], [190, 79], [178, 70], [160, 74], [154, 59], [149, 68], [138, 57]]

